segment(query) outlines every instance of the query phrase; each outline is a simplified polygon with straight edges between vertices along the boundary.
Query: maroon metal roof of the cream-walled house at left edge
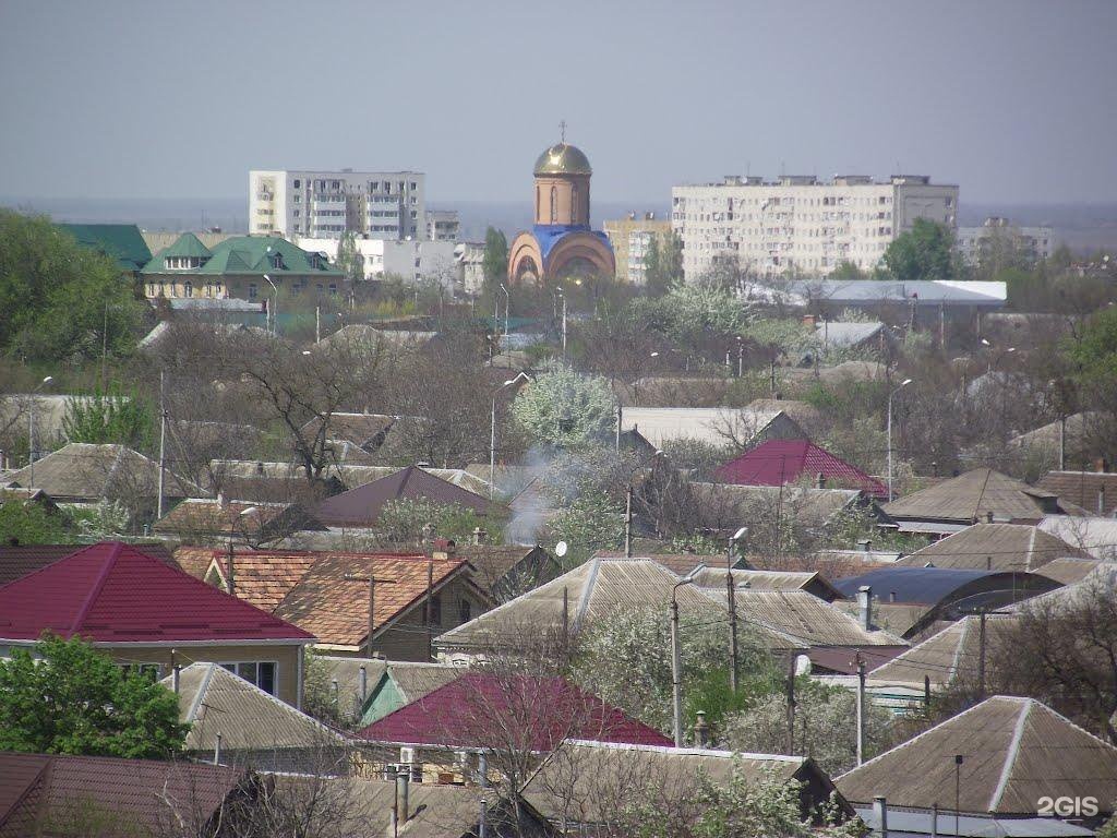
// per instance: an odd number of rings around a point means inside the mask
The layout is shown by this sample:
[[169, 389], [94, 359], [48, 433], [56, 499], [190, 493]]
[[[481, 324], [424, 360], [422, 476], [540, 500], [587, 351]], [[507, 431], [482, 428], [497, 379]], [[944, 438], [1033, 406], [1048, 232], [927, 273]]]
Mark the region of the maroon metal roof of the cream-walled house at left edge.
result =
[[266, 611], [121, 542], [78, 550], [0, 588], [0, 638], [96, 642], [313, 640]]

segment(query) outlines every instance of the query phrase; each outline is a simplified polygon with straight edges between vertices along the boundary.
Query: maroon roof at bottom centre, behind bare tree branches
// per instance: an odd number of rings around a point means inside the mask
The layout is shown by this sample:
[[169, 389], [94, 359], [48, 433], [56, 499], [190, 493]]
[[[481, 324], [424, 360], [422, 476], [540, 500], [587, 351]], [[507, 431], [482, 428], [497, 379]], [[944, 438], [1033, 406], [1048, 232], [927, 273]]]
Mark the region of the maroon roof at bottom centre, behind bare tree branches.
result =
[[487, 673], [464, 675], [359, 735], [373, 742], [475, 747], [513, 736], [536, 751], [550, 751], [564, 739], [671, 744], [659, 731], [562, 678]]

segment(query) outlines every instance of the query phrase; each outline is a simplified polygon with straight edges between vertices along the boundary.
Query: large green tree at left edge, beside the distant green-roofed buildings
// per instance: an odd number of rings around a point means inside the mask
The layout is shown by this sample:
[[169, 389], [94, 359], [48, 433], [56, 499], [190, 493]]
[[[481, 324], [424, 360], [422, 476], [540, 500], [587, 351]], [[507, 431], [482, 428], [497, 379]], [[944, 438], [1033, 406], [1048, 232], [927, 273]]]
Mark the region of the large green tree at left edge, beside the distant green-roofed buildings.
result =
[[28, 361], [125, 355], [145, 310], [112, 259], [46, 217], [0, 210], [0, 351]]

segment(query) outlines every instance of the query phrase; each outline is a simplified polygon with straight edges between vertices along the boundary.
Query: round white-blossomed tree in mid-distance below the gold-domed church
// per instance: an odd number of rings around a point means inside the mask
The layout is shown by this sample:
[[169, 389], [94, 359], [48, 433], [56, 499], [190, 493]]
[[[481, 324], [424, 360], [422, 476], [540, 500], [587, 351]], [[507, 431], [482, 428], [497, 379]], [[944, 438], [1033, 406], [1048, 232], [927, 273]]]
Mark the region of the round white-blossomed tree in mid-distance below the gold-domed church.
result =
[[576, 448], [615, 428], [617, 399], [605, 379], [555, 364], [519, 391], [512, 415], [536, 440]]

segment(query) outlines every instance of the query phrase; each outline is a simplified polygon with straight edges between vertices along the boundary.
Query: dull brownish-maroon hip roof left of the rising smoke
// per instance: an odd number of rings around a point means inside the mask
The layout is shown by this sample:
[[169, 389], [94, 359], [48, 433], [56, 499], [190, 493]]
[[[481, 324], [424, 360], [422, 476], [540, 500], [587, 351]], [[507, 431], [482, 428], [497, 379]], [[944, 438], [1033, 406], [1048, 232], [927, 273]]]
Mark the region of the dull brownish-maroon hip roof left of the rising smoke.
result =
[[388, 477], [366, 483], [326, 498], [315, 507], [314, 516], [327, 526], [372, 526], [389, 501], [423, 498], [439, 504], [456, 504], [487, 514], [493, 504], [418, 466], [408, 466]]

